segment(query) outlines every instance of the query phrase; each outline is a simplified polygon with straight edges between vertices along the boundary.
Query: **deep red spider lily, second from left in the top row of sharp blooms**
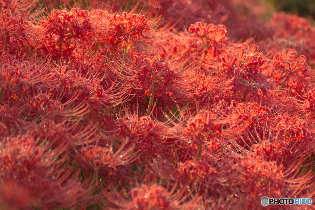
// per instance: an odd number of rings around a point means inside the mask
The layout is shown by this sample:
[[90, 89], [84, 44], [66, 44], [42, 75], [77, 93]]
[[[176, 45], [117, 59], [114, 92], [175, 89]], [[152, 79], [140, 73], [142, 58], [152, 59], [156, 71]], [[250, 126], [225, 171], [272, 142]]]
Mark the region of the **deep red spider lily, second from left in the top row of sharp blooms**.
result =
[[83, 49], [95, 39], [95, 28], [87, 10], [53, 10], [48, 19], [39, 21], [44, 38], [37, 42], [37, 49], [43, 57], [52, 55], [53, 59], [75, 60], [77, 45]]

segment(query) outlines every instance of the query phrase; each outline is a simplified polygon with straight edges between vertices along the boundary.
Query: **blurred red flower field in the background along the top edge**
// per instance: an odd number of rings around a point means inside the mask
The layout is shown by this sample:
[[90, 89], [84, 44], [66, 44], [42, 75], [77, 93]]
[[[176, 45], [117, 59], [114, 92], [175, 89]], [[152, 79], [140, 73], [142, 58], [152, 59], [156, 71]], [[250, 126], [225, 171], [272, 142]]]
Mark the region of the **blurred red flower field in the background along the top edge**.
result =
[[251, 40], [265, 54], [292, 48], [315, 68], [315, 0], [40, 0], [37, 5], [48, 14], [65, 5], [70, 10], [74, 4], [114, 13], [128, 12], [137, 2], [135, 13], [157, 7], [163, 14], [161, 22], [177, 31], [188, 31], [199, 21], [222, 24], [234, 43]]

